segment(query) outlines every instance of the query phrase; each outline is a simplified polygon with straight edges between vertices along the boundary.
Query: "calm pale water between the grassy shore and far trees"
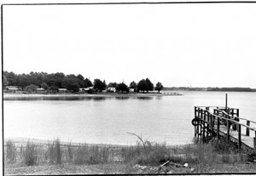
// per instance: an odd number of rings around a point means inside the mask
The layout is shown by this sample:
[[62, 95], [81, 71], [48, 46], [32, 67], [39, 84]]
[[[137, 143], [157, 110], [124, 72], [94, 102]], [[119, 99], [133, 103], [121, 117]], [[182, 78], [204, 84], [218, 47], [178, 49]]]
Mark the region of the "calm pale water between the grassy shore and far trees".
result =
[[[4, 138], [131, 145], [137, 133], [168, 145], [191, 143], [195, 105], [224, 106], [224, 92], [148, 98], [36, 98], [3, 101]], [[229, 106], [256, 121], [256, 93], [228, 93]]]

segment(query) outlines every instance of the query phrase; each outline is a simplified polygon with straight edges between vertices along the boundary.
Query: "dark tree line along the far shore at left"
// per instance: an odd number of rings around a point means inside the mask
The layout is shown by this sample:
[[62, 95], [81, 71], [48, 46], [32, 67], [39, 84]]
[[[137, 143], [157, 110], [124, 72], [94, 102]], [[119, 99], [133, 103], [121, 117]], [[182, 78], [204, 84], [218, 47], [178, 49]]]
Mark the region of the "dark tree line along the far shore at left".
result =
[[115, 88], [116, 91], [122, 93], [129, 92], [133, 88], [135, 92], [148, 92], [152, 90], [160, 90], [163, 88], [161, 82], [154, 84], [148, 79], [142, 79], [139, 82], [131, 82], [126, 85], [124, 82], [109, 82], [108, 85], [105, 80], [96, 78], [91, 82], [89, 78], [84, 78], [79, 75], [65, 75], [64, 73], [57, 72], [48, 74], [46, 72], [30, 72], [29, 74], [15, 74], [12, 71], [3, 71], [3, 87], [18, 86], [22, 90], [44, 88], [52, 92], [58, 92], [59, 88], [67, 88], [70, 92], [79, 92], [79, 88], [93, 87], [96, 92], [102, 92], [106, 88]]

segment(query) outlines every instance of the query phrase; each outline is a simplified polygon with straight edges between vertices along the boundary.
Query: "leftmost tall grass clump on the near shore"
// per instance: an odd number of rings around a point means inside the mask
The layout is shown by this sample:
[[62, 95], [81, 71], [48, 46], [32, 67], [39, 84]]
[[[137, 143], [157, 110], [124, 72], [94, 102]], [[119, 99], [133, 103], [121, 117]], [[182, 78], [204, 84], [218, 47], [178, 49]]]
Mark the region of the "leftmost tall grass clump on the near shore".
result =
[[15, 143], [9, 139], [6, 142], [5, 147], [5, 161], [8, 163], [14, 163], [17, 157], [17, 149], [15, 147]]

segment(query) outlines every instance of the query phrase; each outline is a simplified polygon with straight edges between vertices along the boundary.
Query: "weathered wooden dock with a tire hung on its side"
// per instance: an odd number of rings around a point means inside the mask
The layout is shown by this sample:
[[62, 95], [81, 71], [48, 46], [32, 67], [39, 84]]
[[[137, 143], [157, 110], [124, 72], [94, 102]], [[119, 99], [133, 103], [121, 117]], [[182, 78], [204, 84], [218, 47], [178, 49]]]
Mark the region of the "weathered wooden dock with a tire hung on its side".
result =
[[220, 136], [241, 146], [256, 149], [256, 122], [239, 117], [239, 109], [216, 106], [195, 106], [195, 137], [203, 142]]

